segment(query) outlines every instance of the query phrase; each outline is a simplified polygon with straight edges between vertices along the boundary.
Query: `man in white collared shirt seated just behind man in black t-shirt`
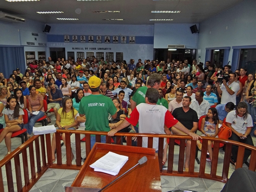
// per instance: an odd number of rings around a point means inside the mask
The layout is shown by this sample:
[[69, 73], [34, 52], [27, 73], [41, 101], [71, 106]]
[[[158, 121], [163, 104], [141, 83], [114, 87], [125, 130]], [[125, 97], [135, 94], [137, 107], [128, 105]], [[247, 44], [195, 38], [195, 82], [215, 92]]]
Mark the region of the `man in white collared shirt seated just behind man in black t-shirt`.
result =
[[195, 100], [192, 100], [190, 108], [194, 109], [196, 113], [198, 114], [198, 119], [206, 115], [208, 113], [208, 109], [210, 108], [209, 102], [205, 100], [204, 98], [204, 91], [198, 90], [195, 93]]

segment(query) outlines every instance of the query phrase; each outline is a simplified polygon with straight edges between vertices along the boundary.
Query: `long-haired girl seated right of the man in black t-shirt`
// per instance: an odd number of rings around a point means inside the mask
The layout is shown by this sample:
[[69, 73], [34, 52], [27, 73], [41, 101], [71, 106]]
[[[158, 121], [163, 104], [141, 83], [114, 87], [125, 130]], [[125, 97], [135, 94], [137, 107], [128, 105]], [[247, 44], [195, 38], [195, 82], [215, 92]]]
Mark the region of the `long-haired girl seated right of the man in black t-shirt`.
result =
[[[218, 111], [215, 108], [209, 108], [208, 113], [204, 119], [202, 119], [201, 132], [203, 133], [201, 136], [203, 137], [218, 137]], [[197, 141], [197, 145], [199, 150], [202, 149], [202, 144], [200, 141]], [[210, 159], [212, 160], [212, 141], [208, 141], [207, 150], [209, 152]]]

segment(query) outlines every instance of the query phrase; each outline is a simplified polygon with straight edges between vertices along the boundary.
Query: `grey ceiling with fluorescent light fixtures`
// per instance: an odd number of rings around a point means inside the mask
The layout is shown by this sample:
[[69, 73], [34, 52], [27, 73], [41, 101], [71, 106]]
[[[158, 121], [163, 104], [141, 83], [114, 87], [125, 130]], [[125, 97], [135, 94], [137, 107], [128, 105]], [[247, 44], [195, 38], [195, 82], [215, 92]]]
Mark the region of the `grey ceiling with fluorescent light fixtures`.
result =
[[[0, 11], [37, 20], [43, 23], [96, 23], [96, 24], [154, 24], [200, 23], [243, 0], [40, 0], [8, 2], [0, 0]], [[81, 9], [77, 14], [76, 9]], [[152, 10], [180, 11], [180, 13], [151, 13]], [[38, 14], [38, 11], [63, 11], [61, 14]], [[92, 11], [120, 11], [120, 13], [93, 13]], [[57, 20], [56, 18], [79, 20]], [[124, 20], [102, 20], [102, 19]], [[173, 19], [150, 21], [150, 19]]]

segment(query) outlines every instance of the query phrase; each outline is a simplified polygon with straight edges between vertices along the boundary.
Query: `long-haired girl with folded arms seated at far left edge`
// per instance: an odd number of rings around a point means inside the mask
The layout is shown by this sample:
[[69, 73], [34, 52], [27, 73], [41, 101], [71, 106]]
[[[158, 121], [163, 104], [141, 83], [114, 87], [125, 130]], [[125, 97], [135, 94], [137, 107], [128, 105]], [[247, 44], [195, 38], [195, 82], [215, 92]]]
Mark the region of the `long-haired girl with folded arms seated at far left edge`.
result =
[[3, 110], [3, 114], [6, 122], [6, 127], [0, 134], [0, 143], [3, 141], [3, 139], [5, 139], [7, 154], [10, 154], [12, 152], [12, 133], [23, 129], [24, 112], [22, 108], [20, 108], [17, 99], [13, 96], [10, 96], [7, 99], [6, 109]]

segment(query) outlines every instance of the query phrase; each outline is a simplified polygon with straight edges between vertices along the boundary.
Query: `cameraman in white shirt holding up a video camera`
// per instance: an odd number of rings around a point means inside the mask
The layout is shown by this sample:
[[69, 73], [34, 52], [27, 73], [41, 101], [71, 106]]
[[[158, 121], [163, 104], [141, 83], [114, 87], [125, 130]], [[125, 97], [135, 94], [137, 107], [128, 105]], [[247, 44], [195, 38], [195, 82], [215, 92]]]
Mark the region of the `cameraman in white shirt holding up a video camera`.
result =
[[220, 82], [217, 81], [218, 94], [222, 94], [221, 104], [227, 104], [227, 102], [233, 102], [234, 105], [236, 105], [236, 93], [240, 89], [239, 84], [235, 82], [236, 73], [230, 73], [230, 75], [227, 76], [227, 78], [226, 76], [223, 76], [221, 86], [220, 86]]

